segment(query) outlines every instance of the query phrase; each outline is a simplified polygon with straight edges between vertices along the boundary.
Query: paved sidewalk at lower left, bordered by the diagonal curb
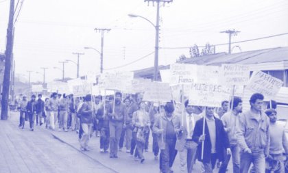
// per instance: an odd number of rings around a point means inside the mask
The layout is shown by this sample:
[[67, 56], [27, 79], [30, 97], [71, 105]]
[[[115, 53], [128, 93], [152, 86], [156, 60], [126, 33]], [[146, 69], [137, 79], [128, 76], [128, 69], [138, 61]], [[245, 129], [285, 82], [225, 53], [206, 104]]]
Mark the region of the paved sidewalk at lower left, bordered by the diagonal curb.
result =
[[101, 163], [55, 139], [49, 131], [36, 127], [18, 128], [18, 114], [0, 121], [0, 172], [103, 172], [113, 173]]

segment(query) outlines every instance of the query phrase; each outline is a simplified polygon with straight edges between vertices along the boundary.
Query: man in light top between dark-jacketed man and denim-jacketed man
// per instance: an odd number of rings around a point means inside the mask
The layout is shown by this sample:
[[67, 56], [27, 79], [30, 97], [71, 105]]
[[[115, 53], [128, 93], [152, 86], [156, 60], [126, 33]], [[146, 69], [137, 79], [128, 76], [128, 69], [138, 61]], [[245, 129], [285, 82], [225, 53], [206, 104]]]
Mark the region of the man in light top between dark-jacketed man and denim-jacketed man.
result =
[[[233, 106], [233, 107], [232, 107]], [[240, 148], [237, 143], [236, 122], [237, 116], [242, 113], [242, 100], [239, 97], [234, 97], [233, 105], [230, 103], [232, 111], [227, 112], [221, 117], [224, 124], [224, 129], [228, 134], [233, 162], [233, 173], [240, 172]]]

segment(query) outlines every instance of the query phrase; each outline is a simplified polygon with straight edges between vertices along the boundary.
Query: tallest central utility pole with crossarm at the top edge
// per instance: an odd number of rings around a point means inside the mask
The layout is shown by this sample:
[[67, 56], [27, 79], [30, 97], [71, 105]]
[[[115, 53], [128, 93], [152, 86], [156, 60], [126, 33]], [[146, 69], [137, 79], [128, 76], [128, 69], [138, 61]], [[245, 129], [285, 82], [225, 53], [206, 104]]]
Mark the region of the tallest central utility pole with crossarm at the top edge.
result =
[[156, 34], [155, 34], [155, 57], [154, 57], [154, 73], [153, 73], [153, 80], [157, 81], [158, 80], [158, 58], [159, 58], [159, 13], [160, 13], [160, 3], [162, 2], [163, 5], [165, 5], [165, 3], [171, 3], [173, 0], [144, 0], [145, 2], [149, 2], [152, 1], [153, 5], [154, 2], [157, 3], [157, 13], [156, 13], [156, 25], [155, 25], [155, 29], [156, 29]]

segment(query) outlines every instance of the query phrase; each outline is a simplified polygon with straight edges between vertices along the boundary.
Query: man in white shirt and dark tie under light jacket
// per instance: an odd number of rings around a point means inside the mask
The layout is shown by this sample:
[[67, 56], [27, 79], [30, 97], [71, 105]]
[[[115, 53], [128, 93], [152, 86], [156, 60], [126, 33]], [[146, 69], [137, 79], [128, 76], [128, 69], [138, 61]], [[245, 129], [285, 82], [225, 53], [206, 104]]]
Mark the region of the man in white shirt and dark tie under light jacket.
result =
[[184, 105], [184, 118], [177, 117], [176, 124], [174, 124], [177, 135], [175, 148], [178, 150], [180, 157], [180, 171], [182, 173], [191, 173], [198, 146], [197, 143], [193, 142], [192, 135], [197, 120], [200, 120], [200, 116], [194, 114], [195, 107], [189, 105], [188, 100], [185, 101]]

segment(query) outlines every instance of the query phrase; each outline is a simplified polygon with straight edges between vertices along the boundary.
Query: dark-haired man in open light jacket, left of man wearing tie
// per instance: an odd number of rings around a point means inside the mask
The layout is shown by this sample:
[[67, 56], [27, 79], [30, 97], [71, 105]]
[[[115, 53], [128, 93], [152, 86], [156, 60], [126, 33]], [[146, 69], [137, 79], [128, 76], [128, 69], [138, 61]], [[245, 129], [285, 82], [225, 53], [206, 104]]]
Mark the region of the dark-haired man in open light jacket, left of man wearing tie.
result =
[[165, 111], [160, 114], [154, 122], [153, 132], [158, 135], [158, 146], [160, 148], [160, 171], [172, 173], [171, 170], [177, 150], [175, 150], [176, 133], [174, 131], [177, 116], [173, 115], [174, 105], [172, 102], [166, 103]]

